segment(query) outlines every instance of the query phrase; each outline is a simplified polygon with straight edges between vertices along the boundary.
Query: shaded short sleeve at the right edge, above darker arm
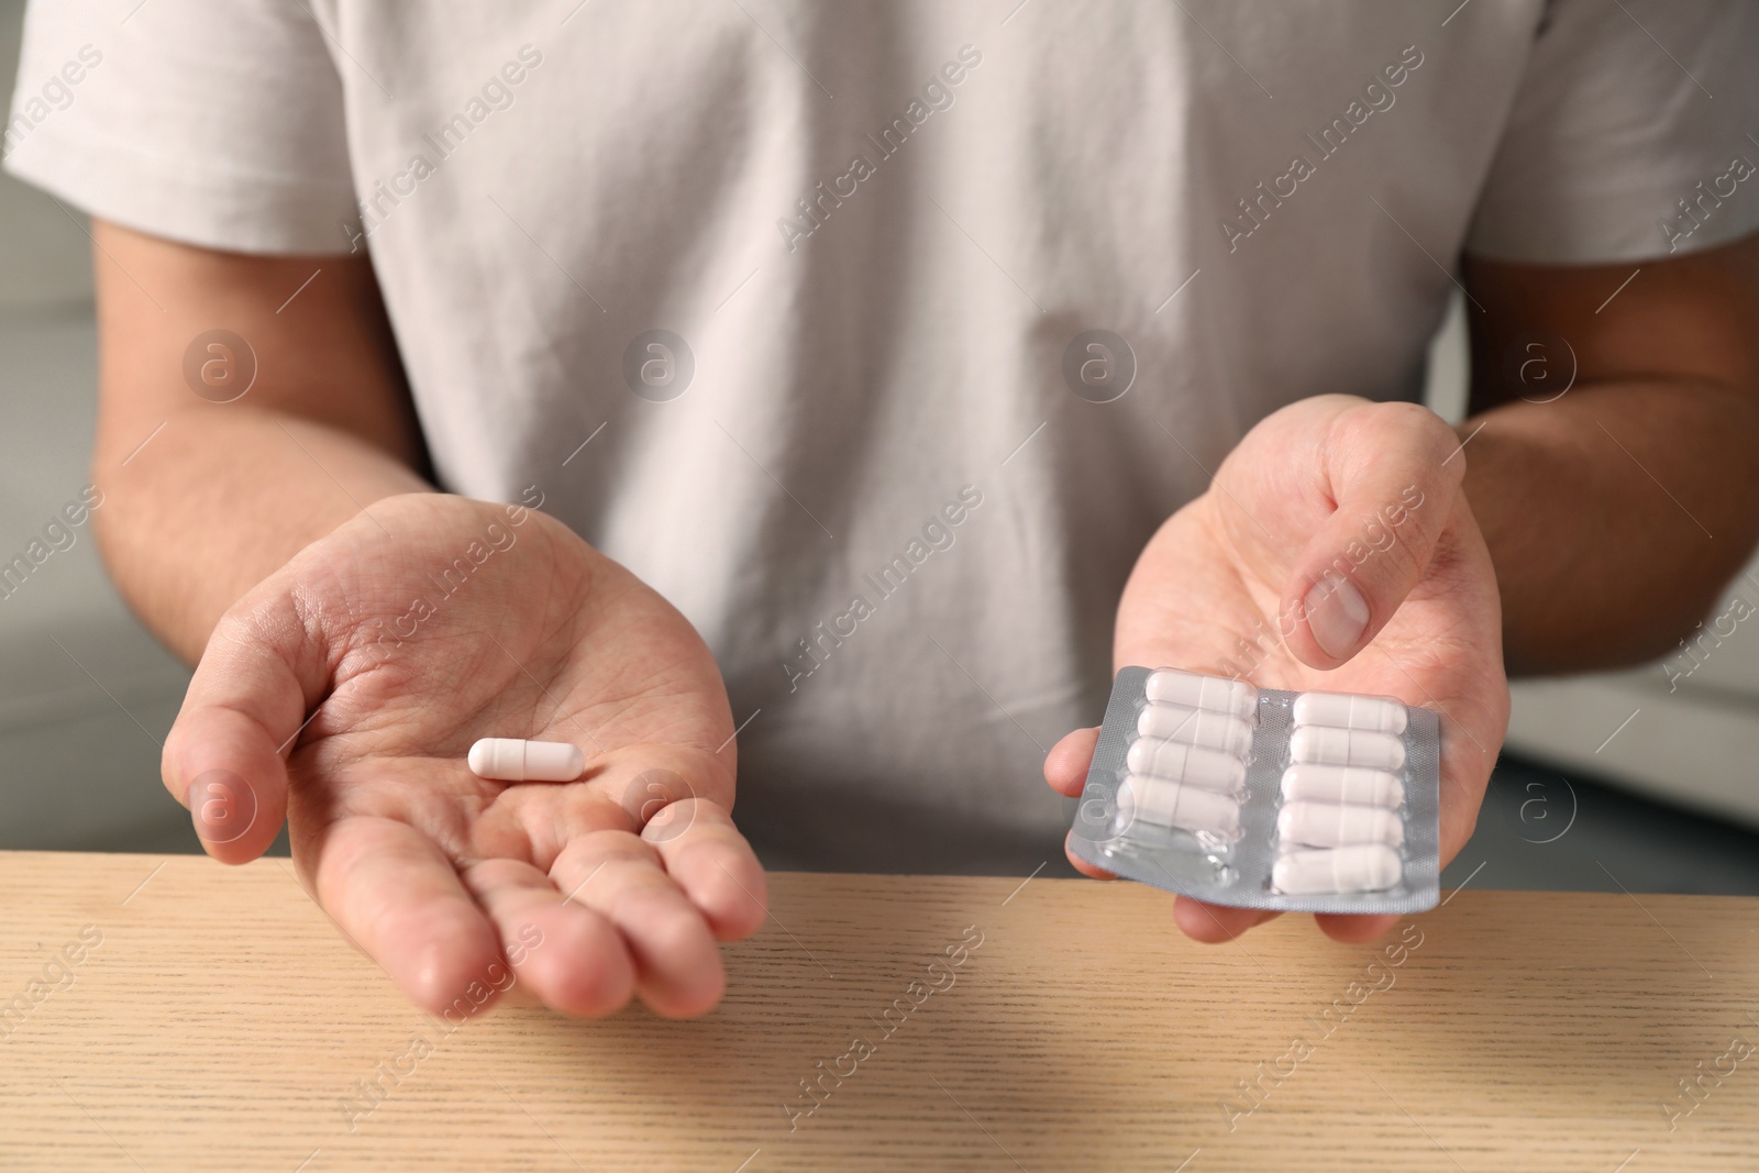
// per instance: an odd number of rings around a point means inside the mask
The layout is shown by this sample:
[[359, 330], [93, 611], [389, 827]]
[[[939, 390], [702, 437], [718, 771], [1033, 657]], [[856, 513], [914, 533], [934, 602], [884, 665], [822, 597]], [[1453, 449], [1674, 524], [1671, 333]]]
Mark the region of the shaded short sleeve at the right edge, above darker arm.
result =
[[1551, 0], [1465, 250], [1645, 260], [1759, 229], [1755, 62], [1752, 0]]

